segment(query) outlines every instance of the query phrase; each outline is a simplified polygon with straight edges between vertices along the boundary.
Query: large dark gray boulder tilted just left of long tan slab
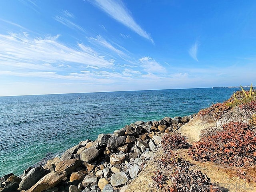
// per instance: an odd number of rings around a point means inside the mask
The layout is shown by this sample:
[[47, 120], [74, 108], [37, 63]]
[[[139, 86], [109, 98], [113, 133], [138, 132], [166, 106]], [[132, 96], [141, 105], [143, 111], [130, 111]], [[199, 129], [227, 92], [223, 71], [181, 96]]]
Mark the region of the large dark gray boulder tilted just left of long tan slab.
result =
[[21, 180], [19, 184], [19, 188], [21, 190], [28, 190], [31, 188], [36, 182], [40, 180], [44, 176], [44, 168], [42, 166], [38, 166], [35, 168], [32, 168], [28, 174]]

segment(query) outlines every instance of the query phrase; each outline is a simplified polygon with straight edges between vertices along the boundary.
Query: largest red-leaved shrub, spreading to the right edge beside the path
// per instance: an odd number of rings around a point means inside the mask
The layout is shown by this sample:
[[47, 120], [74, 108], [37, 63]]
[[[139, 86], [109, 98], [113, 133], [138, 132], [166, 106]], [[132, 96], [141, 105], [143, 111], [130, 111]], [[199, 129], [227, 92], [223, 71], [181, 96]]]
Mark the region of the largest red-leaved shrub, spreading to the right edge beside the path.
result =
[[231, 122], [222, 126], [223, 131], [203, 137], [189, 148], [195, 160], [214, 161], [230, 166], [256, 164], [256, 131], [246, 123]]

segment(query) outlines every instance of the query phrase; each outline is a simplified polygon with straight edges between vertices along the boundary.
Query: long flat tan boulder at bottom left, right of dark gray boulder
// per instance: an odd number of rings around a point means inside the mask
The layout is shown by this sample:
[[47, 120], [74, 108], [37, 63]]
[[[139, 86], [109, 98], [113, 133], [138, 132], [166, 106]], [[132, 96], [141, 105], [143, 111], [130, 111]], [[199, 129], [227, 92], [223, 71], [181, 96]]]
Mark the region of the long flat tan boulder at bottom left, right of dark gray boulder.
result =
[[50, 172], [41, 178], [36, 184], [34, 184], [26, 192], [40, 192], [56, 186], [62, 179], [67, 176], [66, 171], [64, 172]]

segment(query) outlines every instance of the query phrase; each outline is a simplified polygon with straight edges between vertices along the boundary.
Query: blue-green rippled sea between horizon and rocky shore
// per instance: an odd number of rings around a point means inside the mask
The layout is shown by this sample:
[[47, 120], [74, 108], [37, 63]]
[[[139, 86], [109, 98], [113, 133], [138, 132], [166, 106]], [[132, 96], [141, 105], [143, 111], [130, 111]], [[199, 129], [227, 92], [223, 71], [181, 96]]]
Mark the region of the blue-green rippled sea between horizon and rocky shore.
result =
[[171, 89], [0, 97], [0, 176], [135, 121], [197, 113], [238, 89]]

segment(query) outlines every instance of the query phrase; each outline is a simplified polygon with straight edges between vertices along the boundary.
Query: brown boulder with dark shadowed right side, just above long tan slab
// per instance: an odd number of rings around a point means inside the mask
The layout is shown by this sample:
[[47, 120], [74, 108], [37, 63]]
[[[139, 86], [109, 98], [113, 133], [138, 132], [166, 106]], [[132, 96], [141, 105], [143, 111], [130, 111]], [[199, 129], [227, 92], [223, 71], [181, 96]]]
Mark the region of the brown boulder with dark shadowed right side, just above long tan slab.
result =
[[67, 159], [64, 161], [60, 161], [56, 167], [55, 167], [55, 171], [56, 172], [63, 172], [66, 171], [67, 175], [70, 175], [72, 172], [74, 172], [76, 170], [76, 168], [78, 168], [79, 166], [81, 166], [81, 161], [78, 158], [74, 158], [74, 159]]

